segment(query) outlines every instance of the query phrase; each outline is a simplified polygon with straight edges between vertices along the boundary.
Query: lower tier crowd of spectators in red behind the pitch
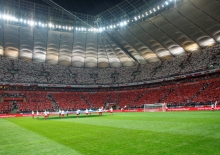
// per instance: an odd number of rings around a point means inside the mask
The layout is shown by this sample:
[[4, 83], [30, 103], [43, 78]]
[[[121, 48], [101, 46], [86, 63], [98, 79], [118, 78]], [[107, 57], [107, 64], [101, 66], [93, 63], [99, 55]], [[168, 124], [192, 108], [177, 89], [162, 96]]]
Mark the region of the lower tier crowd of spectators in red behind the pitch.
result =
[[[211, 105], [220, 101], [220, 74], [167, 81], [151, 85], [124, 88], [68, 89], [35, 88], [0, 90], [0, 113], [32, 110], [55, 111], [105, 107], [114, 103], [118, 107], [143, 107], [144, 104], [167, 103], [169, 107]], [[14, 88], [14, 89], [13, 89]], [[29, 89], [27, 89], [29, 88]], [[125, 90], [125, 88], [127, 88]], [[3, 98], [23, 98], [23, 101], [4, 101]], [[14, 104], [16, 103], [16, 104]]]

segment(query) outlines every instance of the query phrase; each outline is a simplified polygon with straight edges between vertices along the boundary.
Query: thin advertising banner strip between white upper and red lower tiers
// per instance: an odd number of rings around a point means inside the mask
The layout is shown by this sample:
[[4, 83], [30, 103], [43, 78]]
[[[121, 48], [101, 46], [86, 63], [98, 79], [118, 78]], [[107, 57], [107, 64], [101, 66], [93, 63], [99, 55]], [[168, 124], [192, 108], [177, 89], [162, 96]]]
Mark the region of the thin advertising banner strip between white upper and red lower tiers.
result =
[[63, 85], [63, 84], [34, 84], [34, 83], [9, 83], [9, 82], [0, 82], [0, 85], [5, 86], [38, 86], [38, 87], [60, 87], [60, 88], [101, 88], [101, 87], [125, 87], [125, 86], [135, 86], [135, 85], [143, 85], [146, 83], [157, 83], [162, 81], [170, 81], [173, 79], [184, 79], [204, 74], [210, 74], [210, 73], [217, 73], [220, 72], [220, 69], [212, 69], [208, 71], [201, 71], [201, 72], [195, 72], [185, 75], [179, 75], [179, 76], [173, 76], [173, 77], [167, 77], [163, 79], [156, 79], [151, 81], [143, 81], [143, 82], [136, 82], [136, 83], [124, 83], [124, 84], [111, 84], [111, 85]]

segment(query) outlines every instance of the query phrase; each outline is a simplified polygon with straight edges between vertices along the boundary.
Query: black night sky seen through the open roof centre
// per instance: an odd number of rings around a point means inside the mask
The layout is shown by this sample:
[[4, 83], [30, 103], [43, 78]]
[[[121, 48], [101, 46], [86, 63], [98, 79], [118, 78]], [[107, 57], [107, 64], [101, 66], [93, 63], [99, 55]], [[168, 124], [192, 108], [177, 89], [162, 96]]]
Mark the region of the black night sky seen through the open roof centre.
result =
[[[43, 0], [28, 0], [30, 2], [48, 5]], [[53, 0], [68, 11], [97, 15], [123, 0]]]

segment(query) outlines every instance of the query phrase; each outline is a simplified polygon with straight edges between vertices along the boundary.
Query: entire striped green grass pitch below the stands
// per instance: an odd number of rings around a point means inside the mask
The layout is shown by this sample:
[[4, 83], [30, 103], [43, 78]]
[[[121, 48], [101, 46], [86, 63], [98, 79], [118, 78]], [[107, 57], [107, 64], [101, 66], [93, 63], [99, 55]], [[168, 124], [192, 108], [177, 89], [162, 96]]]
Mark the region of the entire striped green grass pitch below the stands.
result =
[[0, 119], [1, 155], [217, 155], [220, 111]]

